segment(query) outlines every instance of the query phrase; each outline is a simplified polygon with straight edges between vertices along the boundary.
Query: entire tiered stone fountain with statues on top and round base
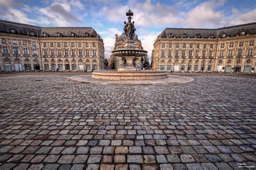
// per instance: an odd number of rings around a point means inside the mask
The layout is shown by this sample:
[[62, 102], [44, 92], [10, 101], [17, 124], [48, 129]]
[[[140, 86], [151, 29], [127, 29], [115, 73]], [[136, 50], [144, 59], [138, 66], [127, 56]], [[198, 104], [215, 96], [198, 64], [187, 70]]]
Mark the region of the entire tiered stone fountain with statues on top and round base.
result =
[[124, 22], [124, 33], [120, 39], [124, 42], [122, 49], [113, 50], [112, 55], [120, 57], [121, 63], [118, 70], [96, 70], [92, 73], [92, 78], [109, 80], [154, 80], [167, 78], [164, 71], [141, 70], [141, 57], [147, 55], [147, 51], [135, 49], [134, 42], [138, 41], [135, 34], [134, 21], [131, 22], [133, 12], [126, 12], [128, 22]]

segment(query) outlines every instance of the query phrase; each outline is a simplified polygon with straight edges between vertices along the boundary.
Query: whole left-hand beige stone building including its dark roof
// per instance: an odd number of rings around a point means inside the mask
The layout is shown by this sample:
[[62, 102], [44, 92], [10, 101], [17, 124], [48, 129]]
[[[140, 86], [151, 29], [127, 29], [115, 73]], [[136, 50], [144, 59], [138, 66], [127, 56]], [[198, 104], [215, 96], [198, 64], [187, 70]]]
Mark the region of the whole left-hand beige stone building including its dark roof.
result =
[[103, 39], [91, 27], [44, 28], [0, 20], [0, 71], [104, 68]]

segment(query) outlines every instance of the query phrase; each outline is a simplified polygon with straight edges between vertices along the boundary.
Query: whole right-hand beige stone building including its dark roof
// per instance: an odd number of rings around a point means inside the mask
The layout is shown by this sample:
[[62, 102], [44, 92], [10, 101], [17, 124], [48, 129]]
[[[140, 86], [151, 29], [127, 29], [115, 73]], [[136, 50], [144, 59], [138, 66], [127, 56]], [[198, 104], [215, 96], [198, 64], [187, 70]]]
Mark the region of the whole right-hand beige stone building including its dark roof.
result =
[[167, 28], [154, 42], [152, 68], [174, 72], [255, 72], [256, 23], [219, 29]]

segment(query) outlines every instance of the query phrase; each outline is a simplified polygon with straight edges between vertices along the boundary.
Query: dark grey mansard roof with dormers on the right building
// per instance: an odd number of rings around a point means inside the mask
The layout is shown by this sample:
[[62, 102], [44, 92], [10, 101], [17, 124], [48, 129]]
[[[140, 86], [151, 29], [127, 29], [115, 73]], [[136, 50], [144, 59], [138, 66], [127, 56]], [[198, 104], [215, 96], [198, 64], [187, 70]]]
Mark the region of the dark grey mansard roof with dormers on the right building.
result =
[[218, 29], [193, 29], [193, 28], [166, 28], [161, 32], [160, 37], [198, 37], [216, 38], [226, 34], [226, 36], [237, 36], [245, 34], [256, 34], [256, 23], [228, 26]]

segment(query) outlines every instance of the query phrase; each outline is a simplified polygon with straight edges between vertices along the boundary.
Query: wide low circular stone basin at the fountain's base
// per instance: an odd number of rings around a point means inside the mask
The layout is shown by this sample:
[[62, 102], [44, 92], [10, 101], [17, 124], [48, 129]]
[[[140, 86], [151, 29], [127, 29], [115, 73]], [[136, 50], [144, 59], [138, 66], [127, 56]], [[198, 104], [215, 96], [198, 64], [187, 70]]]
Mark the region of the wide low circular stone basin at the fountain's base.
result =
[[156, 80], [167, 78], [164, 71], [142, 70], [142, 71], [116, 71], [96, 70], [92, 72], [92, 78], [106, 80]]

